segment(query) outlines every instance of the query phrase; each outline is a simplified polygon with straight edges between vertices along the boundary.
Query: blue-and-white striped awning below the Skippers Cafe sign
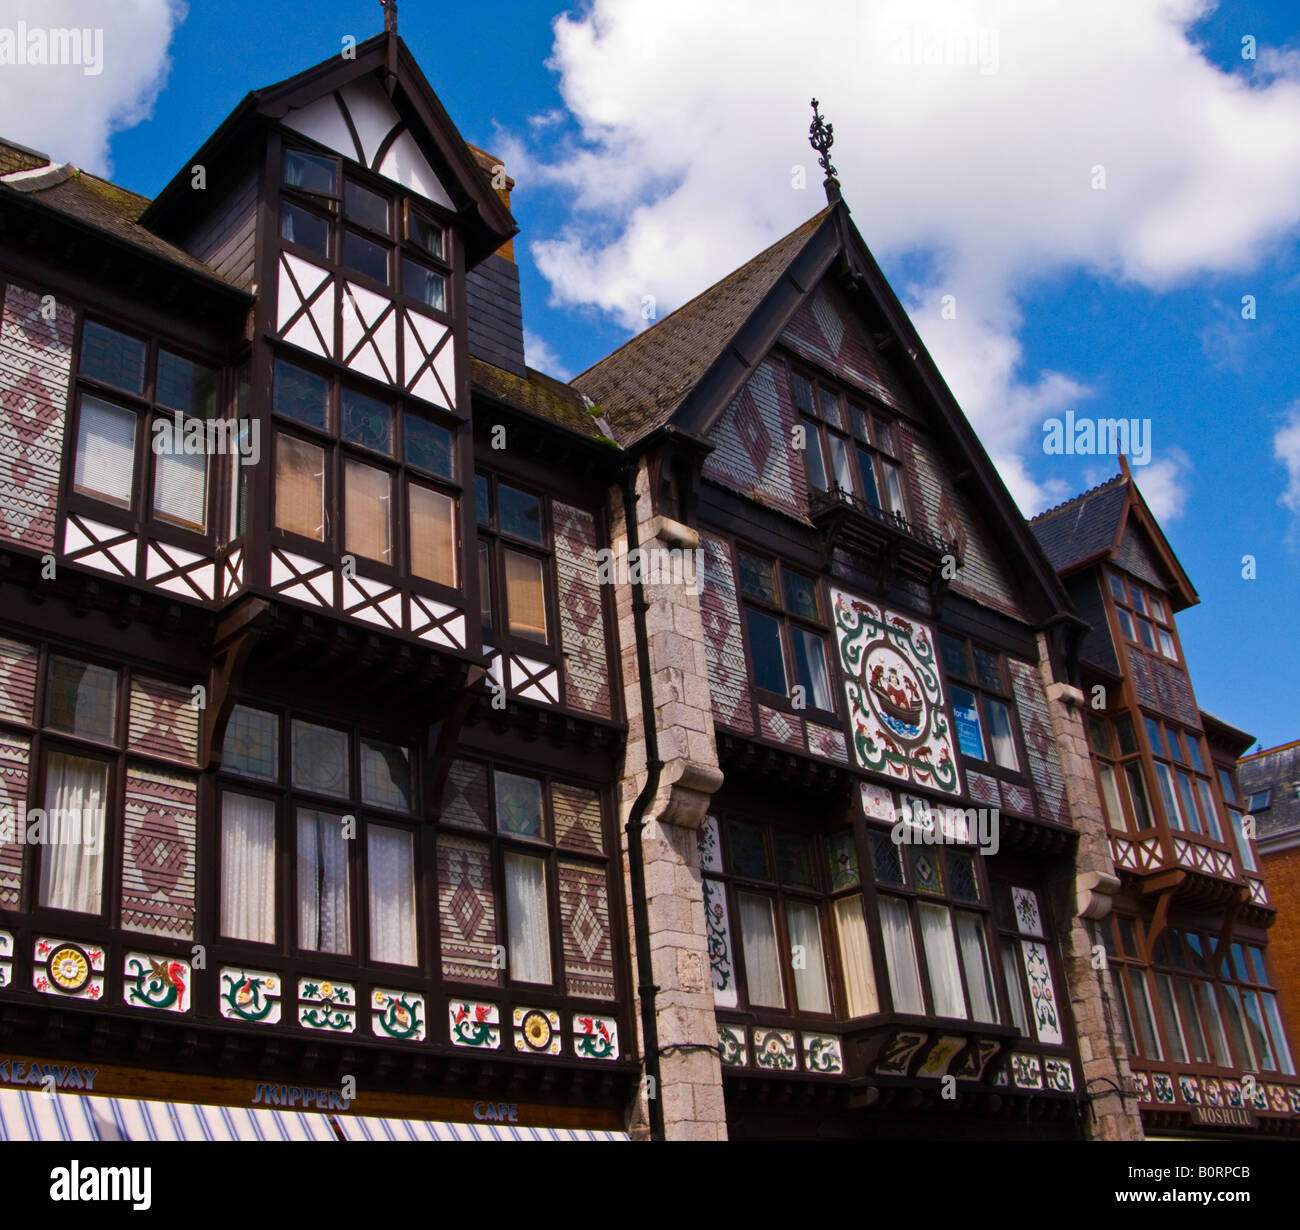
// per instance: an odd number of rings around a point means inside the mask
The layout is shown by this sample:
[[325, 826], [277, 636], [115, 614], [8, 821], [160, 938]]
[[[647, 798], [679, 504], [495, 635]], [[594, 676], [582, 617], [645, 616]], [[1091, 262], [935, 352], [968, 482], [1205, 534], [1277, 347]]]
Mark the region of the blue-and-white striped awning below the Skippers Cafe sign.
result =
[[627, 1140], [620, 1131], [441, 1123], [0, 1090], [0, 1140]]

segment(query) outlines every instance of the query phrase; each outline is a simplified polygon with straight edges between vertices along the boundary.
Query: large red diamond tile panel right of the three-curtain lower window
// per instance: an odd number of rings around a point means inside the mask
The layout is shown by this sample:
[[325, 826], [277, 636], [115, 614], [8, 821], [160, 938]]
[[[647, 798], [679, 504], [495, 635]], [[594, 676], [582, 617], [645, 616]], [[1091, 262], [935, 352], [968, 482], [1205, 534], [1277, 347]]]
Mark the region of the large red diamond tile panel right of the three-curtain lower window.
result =
[[498, 986], [497, 902], [486, 843], [438, 836], [438, 921], [442, 976]]

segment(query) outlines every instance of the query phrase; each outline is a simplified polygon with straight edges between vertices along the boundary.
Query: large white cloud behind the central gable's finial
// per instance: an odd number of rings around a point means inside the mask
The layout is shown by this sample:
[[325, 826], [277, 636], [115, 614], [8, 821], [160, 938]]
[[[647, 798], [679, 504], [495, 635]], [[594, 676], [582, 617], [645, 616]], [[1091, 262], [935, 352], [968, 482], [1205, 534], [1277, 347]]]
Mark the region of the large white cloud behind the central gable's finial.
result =
[[642, 295], [662, 316], [820, 207], [815, 95], [867, 242], [930, 257], [905, 304], [1032, 512], [1061, 485], [1027, 471], [1041, 419], [1088, 390], [1026, 371], [1026, 290], [1080, 269], [1164, 290], [1249, 268], [1300, 224], [1300, 57], [1219, 70], [1188, 36], [1210, 8], [593, 0], [554, 26], [578, 138], [511, 151], [572, 194], [571, 225], [532, 254], [552, 303], [644, 326]]

